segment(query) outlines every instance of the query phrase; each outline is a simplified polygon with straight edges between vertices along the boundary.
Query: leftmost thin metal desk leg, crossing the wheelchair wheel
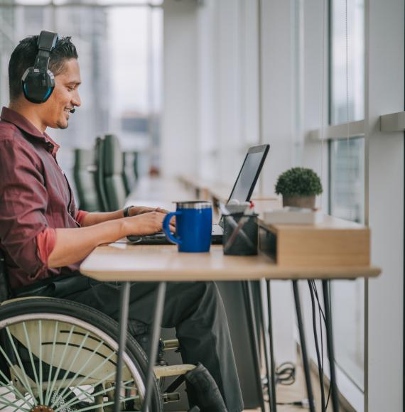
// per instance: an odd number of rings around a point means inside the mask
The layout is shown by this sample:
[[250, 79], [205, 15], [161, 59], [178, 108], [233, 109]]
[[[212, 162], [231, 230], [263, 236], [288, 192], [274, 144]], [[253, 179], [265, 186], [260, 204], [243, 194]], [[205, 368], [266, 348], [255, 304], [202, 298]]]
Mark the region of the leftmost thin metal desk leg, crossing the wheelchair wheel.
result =
[[115, 394], [114, 394], [114, 412], [119, 412], [119, 395], [121, 392], [122, 366], [126, 345], [126, 325], [128, 322], [128, 306], [129, 306], [129, 289], [130, 282], [124, 282], [121, 287], [121, 306], [119, 308], [119, 341], [118, 341], [118, 360], [117, 360], [117, 375], [115, 377]]

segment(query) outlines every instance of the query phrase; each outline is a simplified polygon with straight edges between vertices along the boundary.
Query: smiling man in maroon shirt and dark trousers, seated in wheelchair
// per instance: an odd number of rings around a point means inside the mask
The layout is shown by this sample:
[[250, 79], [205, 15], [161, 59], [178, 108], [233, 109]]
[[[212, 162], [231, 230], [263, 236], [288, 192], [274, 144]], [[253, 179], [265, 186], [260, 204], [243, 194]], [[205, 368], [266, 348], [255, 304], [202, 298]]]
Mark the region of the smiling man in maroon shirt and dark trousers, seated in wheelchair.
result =
[[[50, 52], [55, 88], [45, 102], [28, 101], [21, 79], [34, 65], [38, 36], [25, 38], [9, 62], [10, 104], [0, 120], [0, 248], [17, 296], [75, 300], [118, 318], [119, 286], [78, 272], [82, 259], [100, 244], [162, 228], [164, 210], [131, 207], [106, 213], [77, 210], [68, 180], [56, 161], [58, 144], [48, 127], [66, 129], [80, 107], [80, 68], [70, 38]], [[25, 86], [24, 86], [25, 87]], [[47, 93], [48, 94], [48, 93]], [[174, 229], [172, 227], [172, 229]], [[129, 319], [134, 335], [152, 322], [155, 283], [131, 287]], [[163, 327], [175, 327], [183, 362], [201, 362], [214, 377], [228, 411], [243, 409], [229, 330], [214, 283], [168, 283]], [[189, 393], [190, 403], [195, 396]]]

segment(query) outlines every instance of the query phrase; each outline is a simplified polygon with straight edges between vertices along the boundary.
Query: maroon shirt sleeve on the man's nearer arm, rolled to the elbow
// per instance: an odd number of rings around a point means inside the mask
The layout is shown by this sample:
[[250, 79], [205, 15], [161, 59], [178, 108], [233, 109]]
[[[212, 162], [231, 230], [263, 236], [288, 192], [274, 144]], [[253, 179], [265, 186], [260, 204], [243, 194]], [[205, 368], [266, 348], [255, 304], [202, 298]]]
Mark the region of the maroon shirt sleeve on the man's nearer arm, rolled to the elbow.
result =
[[41, 163], [29, 147], [3, 141], [0, 160], [0, 239], [13, 263], [30, 280], [48, 276], [38, 254], [37, 236], [48, 227], [48, 194]]

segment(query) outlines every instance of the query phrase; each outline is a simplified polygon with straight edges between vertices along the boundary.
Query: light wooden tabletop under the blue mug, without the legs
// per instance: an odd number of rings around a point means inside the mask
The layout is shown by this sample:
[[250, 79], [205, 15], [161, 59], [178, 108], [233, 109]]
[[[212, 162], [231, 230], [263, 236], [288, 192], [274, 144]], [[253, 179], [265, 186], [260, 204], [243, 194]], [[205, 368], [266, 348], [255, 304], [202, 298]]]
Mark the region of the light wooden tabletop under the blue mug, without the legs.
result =
[[371, 278], [380, 271], [372, 266], [284, 267], [263, 254], [225, 256], [222, 245], [210, 253], [179, 253], [175, 245], [101, 246], [80, 266], [98, 281], [253, 281]]

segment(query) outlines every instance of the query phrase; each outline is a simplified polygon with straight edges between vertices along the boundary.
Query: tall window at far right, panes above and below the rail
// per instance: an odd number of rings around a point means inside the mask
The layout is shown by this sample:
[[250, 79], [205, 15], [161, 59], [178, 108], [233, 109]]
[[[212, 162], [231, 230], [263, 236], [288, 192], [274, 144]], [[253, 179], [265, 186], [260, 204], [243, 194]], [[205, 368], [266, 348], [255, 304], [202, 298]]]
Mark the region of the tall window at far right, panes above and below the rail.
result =
[[[330, 8], [329, 107], [334, 125], [364, 119], [364, 0], [331, 0]], [[364, 223], [365, 139], [341, 137], [329, 143], [329, 212]], [[336, 364], [361, 391], [365, 379], [364, 288], [362, 279], [332, 286]]]

